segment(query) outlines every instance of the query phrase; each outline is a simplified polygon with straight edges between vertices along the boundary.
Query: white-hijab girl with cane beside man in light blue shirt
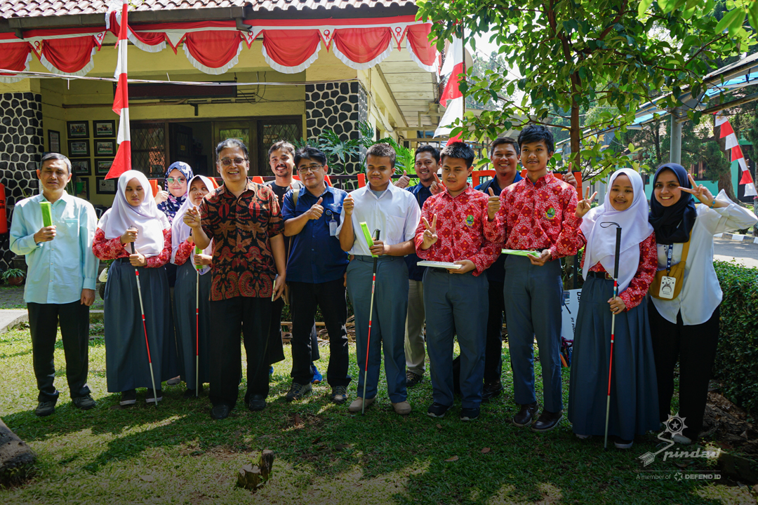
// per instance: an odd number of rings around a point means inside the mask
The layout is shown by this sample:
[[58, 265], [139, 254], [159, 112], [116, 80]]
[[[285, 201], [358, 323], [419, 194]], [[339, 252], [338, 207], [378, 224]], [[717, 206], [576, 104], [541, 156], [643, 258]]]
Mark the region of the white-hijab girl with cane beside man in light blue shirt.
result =
[[[142, 172], [128, 170], [118, 178], [118, 191], [112, 207], [100, 218], [92, 251], [101, 260], [114, 260], [105, 284], [108, 391], [121, 392], [121, 405], [136, 403], [136, 388], [148, 388], [147, 403], [161, 401], [161, 390], [152, 391], [145, 332], [155, 379], [163, 382], [177, 376], [175, 342], [168, 338], [168, 282], [162, 268], [171, 257], [171, 226], [155, 205]], [[135, 268], [142, 287], [145, 328]]]

